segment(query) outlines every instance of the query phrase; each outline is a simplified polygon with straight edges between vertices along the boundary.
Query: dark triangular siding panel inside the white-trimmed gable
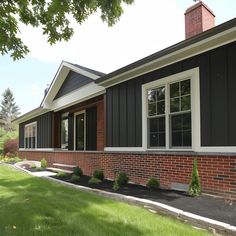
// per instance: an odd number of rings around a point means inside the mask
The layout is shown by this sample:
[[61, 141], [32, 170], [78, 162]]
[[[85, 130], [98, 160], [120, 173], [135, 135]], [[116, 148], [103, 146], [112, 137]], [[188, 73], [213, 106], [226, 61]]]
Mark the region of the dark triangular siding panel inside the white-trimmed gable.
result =
[[93, 79], [82, 75], [82, 74], [78, 74], [74, 71], [70, 71], [65, 79], [65, 81], [63, 82], [61, 88], [59, 89], [58, 93], [56, 94], [55, 99], [60, 98], [86, 84], [89, 84], [93, 81]]

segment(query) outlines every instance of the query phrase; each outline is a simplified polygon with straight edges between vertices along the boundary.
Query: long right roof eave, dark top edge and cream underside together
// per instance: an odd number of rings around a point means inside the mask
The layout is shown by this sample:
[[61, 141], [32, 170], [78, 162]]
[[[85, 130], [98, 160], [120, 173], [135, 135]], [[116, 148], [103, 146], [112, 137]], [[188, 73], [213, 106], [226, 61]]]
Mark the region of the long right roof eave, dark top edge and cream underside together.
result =
[[104, 87], [113, 86], [125, 80], [235, 41], [235, 32], [236, 18], [102, 76], [96, 80], [96, 83]]

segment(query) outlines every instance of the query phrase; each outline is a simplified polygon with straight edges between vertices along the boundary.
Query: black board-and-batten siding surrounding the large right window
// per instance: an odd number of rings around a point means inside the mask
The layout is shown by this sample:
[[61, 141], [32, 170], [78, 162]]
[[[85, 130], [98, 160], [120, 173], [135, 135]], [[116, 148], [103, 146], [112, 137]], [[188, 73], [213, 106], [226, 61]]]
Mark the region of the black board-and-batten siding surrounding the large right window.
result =
[[236, 145], [236, 42], [107, 89], [107, 147], [142, 146], [142, 84], [200, 68], [201, 145]]

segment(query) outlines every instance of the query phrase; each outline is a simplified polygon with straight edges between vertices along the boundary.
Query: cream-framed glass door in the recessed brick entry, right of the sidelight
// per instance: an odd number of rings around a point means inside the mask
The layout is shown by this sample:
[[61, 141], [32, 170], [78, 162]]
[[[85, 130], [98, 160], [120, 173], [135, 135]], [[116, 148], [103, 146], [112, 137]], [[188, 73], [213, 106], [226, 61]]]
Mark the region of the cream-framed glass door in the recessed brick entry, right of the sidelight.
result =
[[76, 150], [85, 150], [85, 113], [80, 113], [75, 117], [75, 147]]

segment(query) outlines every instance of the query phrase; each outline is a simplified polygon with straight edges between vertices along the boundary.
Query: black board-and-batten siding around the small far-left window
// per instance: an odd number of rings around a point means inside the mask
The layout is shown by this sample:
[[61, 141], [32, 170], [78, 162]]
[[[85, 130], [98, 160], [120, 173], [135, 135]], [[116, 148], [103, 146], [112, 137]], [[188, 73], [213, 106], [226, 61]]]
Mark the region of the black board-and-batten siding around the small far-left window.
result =
[[52, 148], [53, 112], [45, 113], [19, 124], [19, 147], [24, 148], [25, 125], [37, 122], [37, 148]]

